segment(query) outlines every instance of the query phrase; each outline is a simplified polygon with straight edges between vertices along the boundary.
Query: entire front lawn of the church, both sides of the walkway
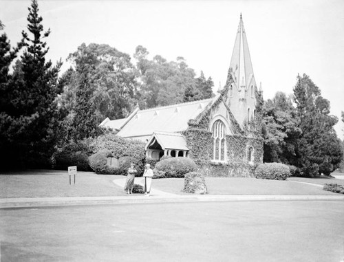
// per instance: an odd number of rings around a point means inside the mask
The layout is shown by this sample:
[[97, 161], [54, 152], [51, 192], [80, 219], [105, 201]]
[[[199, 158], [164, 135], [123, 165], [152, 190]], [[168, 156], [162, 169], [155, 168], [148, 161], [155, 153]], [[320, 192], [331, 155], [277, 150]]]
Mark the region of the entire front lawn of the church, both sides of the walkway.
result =
[[[124, 196], [122, 187], [112, 181], [125, 179], [122, 175], [96, 175], [78, 172], [76, 184], [69, 185], [67, 171], [25, 171], [0, 173], [0, 198], [14, 197], [101, 197]], [[329, 177], [289, 177], [286, 181], [241, 177], [206, 177], [210, 195], [336, 195], [321, 186], [302, 184], [342, 184], [343, 179]], [[153, 179], [152, 187], [167, 193], [184, 195], [183, 178]]]

